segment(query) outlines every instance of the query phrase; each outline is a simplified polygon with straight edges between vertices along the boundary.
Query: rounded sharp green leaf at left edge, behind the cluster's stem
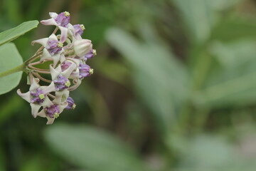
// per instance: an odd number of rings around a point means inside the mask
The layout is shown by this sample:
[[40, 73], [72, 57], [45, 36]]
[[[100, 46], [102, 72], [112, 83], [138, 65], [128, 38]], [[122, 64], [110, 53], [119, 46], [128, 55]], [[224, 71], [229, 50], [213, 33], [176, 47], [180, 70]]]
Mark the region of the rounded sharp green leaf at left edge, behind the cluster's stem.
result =
[[[23, 59], [14, 43], [7, 43], [0, 46], [0, 54], [0, 73], [20, 66], [23, 63]], [[22, 72], [18, 72], [0, 78], [0, 95], [18, 86], [18, 83], [21, 81], [21, 75]]]

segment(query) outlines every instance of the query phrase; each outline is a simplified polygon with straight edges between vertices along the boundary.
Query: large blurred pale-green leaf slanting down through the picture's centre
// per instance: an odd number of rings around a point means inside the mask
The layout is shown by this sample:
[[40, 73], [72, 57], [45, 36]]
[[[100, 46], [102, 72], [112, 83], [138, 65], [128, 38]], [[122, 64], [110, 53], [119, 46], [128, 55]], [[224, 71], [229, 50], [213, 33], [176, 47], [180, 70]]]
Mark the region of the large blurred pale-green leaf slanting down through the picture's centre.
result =
[[164, 43], [151, 41], [159, 38], [158, 35], [151, 35], [142, 42], [120, 28], [110, 28], [106, 36], [107, 41], [131, 63], [136, 94], [152, 110], [159, 128], [169, 130], [174, 114], [188, 95], [186, 68]]

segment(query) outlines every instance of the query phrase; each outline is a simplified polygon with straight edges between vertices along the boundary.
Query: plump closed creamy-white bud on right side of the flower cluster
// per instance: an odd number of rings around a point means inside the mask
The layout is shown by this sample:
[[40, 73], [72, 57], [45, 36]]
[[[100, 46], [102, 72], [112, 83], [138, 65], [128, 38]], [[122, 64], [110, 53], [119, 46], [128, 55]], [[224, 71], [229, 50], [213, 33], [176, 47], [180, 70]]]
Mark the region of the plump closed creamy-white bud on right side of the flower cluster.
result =
[[92, 50], [92, 41], [88, 39], [76, 40], [74, 43], [75, 54], [79, 57], [85, 56]]

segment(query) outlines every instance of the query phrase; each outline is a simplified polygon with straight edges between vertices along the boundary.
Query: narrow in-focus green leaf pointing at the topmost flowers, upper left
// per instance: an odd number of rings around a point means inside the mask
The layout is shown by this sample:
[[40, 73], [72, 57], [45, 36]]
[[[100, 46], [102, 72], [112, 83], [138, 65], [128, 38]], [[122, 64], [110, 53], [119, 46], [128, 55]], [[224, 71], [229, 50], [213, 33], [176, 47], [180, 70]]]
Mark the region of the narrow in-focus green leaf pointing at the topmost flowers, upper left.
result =
[[22, 36], [24, 33], [31, 31], [33, 28], [38, 26], [39, 22], [37, 20], [34, 21], [26, 21], [14, 28], [6, 30], [0, 33], [0, 46], [4, 43], [8, 43], [13, 41], [14, 39]]

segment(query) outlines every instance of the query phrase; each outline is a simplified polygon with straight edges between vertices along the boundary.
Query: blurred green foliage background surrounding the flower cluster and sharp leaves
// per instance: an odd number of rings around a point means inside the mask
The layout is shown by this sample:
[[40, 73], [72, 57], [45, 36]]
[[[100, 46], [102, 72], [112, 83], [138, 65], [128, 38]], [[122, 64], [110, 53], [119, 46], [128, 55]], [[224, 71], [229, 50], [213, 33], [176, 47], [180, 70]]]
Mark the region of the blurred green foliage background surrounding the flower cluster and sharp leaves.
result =
[[[0, 0], [0, 31], [51, 11], [85, 25], [95, 74], [53, 125], [0, 95], [0, 171], [256, 170], [256, 1]], [[53, 29], [14, 41], [24, 60]]]

